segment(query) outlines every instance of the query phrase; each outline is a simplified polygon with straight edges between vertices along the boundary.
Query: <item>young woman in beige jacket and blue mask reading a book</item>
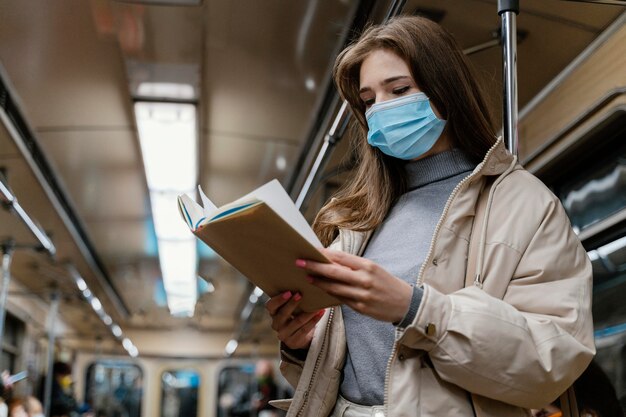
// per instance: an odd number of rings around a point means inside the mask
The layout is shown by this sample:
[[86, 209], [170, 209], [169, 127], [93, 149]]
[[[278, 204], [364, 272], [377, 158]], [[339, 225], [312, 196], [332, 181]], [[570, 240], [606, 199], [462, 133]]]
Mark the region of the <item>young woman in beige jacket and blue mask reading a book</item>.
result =
[[594, 354], [591, 267], [558, 201], [496, 139], [452, 36], [419, 17], [337, 58], [358, 121], [354, 179], [318, 214], [343, 305], [267, 303], [296, 387], [288, 415], [520, 416]]

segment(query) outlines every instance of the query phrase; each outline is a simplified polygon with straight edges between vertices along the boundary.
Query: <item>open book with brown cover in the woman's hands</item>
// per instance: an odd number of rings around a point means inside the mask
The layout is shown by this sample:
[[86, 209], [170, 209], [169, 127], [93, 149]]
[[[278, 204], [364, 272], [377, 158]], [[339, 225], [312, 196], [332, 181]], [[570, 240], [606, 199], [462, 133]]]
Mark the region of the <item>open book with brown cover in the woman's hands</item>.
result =
[[340, 302], [311, 285], [296, 259], [329, 262], [322, 244], [277, 180], [240, 199], [216, 207], [198, 186], [202, 206], [178, 197], [180, 214], [191, 231], [267, 295], [300, 292], [299, 308], [312, 312]]

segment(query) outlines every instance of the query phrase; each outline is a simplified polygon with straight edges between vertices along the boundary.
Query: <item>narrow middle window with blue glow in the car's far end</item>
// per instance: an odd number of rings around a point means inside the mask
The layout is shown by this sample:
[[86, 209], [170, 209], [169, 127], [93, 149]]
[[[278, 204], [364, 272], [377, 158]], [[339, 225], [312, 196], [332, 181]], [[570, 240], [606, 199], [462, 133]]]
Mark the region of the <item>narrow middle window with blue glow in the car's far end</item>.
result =
[[161, 417], [198, 415], [200, 374], [193, 369], [168, 370], [161, 375]]

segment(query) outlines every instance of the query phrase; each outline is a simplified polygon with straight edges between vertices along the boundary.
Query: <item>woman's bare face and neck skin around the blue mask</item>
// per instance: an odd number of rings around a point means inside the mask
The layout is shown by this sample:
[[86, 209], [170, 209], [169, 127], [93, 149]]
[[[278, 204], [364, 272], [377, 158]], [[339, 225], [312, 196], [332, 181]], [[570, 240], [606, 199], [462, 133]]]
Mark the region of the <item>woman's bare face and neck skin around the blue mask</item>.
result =
[[[408, 64], [394, 52], [376, 49], [363, 60], [359, 74], [359, 96], [366, 110], [373, 104], [419, 92], [421, 90], [413, 79]], [[441, 119], [441, 113], [432, 102], [430, 106]], [[449, 143], [444, 131], [435, 145], [420, 158], [449, 149]]]

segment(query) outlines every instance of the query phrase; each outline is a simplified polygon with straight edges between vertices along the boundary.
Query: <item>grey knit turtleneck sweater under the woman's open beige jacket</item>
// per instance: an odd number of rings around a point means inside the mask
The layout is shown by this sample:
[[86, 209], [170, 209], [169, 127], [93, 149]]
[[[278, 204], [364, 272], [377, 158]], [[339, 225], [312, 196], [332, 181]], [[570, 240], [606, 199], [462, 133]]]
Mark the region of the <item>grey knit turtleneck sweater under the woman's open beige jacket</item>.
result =
[[[407, 162], [408, 191], [376, 229], [363, 257], [414, 285], [448, 197], [474, 167], [458, 149]], [[422, 293], [421, 288], [413, 289], [401, 327], [415, 318]], [[381, 405], [394, 325], [361, 315], [346, 305], [341, 310], [348, 343], [341, 395], [357, 404]]]

